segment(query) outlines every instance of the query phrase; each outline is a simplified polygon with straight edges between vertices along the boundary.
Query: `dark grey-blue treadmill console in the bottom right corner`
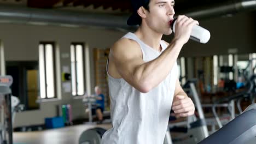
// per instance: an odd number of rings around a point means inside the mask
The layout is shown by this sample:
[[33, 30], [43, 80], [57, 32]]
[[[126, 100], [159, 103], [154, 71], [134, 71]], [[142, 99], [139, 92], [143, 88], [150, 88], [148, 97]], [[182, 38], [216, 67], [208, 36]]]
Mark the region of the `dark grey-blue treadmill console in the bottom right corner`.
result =
[[199, 144], [253, 144], [256, 143], [256, 104], [208, 136]]

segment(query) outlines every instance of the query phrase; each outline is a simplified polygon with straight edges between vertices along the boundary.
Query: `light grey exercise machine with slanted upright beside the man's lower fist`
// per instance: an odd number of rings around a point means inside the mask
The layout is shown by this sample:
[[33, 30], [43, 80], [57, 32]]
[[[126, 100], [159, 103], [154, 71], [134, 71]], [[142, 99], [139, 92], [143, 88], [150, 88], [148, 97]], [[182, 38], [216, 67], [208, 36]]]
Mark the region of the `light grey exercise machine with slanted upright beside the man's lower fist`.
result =
[[[164, 143], [171, 143], [170, 132], [182, 133], [181, 136], [173, 137], [173, 139], [171, 139], [173, 143], [182, 143], [182, 144], [198, 143], [209, 135], [205, 115], [203, 114], [202, 105], [200, 103], [199, 95], [197, 94], [196, 87], [195, 87], [196, 82], [197, 82], [197, 79], [188, 80], [184, 84], [183, 90], [190, 97], [192, 96], [191, 99], [194, 101], [196, 112], [198, 113], [198, 117], [196, 117], [195, 115], [189, 116], [188, 121], [168, 124], [169, 129], [167, 129]], [[187, 125], [187, 127], [181, 127], [182, 125]]]

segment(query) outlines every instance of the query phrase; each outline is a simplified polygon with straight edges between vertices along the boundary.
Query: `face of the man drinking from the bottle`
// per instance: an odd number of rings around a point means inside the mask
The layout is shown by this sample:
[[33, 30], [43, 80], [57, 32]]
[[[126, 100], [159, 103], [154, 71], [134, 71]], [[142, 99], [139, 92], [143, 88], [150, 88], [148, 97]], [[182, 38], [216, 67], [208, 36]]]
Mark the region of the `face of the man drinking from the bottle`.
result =
[[146, 23], [154, 31], [169, 35], [172, 33], [170, 21], [173, 20], [174, 0], [150, 0]]

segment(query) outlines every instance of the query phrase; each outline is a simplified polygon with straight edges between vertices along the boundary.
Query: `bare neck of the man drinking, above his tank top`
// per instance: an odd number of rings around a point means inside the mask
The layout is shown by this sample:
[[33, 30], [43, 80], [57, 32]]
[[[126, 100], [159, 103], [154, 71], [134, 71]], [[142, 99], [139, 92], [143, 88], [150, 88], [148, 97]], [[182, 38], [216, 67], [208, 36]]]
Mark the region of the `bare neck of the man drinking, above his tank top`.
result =
[[[151, 29], [150, 29], [151, 30]], [[156, 51], [161, 51], [160, 41], [162, 39], [161, 33], [156, 33], [155, 31], [150, 31], [149, 28], [139, 27], [135, 34], [139, 39], [141, 39], [145, 44], [152, 47]]]

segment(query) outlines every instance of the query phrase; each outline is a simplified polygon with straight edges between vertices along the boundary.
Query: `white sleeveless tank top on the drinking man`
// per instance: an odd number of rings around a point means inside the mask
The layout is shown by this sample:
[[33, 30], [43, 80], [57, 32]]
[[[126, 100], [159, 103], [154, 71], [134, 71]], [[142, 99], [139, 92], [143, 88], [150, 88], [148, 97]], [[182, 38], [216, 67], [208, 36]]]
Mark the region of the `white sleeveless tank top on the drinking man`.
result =
[[[123, 38], [137, 41], [141, 46], [144, 62], [157, 58], [167, 47], [164, 41], [161, 41], [162, 51], [158, 52], [133, 33], [127, 33]], [[124, 79], [114, 79], [108, 74], [113, 128], [104, 133], [101, 143], [164, 143], [177, 77], [178, 68], [175, 63], [164, 81], [148, 93], [141, 93]]]

